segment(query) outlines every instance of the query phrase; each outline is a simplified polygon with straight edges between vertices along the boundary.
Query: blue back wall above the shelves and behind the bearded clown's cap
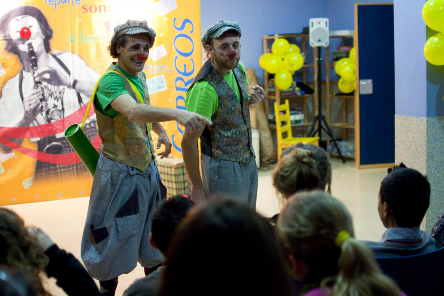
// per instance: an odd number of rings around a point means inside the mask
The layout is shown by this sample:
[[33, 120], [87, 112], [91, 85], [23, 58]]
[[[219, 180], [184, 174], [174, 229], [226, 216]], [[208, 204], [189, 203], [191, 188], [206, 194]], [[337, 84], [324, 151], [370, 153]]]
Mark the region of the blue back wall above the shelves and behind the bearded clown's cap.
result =
[[263, 53], [263, 35], [300, 33], [313, 17], [329, 18], [330, 30], [353, 30], [354, 3], [393, 3], [393, 0], [201, 0], [202, 35], [219, 19], [239, 22], [242, 30], [241, 61], [254, 67], [259, 84], [263, 70], [259, 57]]

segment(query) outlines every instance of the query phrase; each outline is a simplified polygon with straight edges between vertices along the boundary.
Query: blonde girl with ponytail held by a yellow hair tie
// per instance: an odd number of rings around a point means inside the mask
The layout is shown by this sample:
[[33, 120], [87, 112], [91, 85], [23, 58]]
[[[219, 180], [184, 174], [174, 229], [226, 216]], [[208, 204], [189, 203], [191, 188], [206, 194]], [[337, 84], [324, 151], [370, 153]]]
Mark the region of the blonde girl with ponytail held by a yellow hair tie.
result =
[[354, 238], [345, 206], [322, 191], [292, 196], [276, 225], [304, 296], [401, 296], [371, 250]]

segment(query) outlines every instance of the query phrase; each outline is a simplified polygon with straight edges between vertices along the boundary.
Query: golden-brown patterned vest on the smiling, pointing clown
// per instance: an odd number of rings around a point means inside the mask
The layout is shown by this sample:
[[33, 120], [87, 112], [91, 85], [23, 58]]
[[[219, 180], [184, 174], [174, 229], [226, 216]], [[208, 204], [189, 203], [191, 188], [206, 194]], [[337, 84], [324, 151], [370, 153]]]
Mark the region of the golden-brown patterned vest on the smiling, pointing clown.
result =
[[[113, 63], [108, 69], [120, 73], [125, 77], [119, 68]], [[144, 103], [150, 105], [148, 88], [142, 73], [139, 73], [144, 88]], [[137, 95], [134, 93], [131, 85], [126, 78], [126, 90], [134, 98], [137, 103], [142, 103]], [[96, 97], [95, 97], [96, 98]], [[127, 117], [122, 114], [111, 118], [102, 114], [94, 106], [97, 116], [97, 126], [99, 128], [99, 136], [102, 139], [101, 151], [103, 155], [108, 158], [123, 163], [130, 167], [145, 171], [154, 152], [152, 144], [151, 133], [149, 132], [149, 123], [139, 123], [129, 121]]]

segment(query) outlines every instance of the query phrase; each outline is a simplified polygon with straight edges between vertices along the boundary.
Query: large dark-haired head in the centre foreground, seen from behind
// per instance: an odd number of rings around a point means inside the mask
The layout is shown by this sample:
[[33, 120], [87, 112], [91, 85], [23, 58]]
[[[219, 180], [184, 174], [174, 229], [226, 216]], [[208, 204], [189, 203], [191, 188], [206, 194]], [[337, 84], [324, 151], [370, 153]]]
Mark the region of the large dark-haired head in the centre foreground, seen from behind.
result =
[[161, 295], [289, 292], [285, 262], [270, 223], [234, 200], [212, 199], [191, 209], [166, 258]]

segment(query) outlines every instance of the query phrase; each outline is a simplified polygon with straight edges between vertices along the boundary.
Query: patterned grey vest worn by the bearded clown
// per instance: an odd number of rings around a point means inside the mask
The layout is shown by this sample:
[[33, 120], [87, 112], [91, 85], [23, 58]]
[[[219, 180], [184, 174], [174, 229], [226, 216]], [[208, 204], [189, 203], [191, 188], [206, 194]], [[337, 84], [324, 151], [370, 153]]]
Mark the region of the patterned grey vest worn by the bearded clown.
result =
[[214, 87], [219, 98], [218, 109], [211, 117], [213, 124], [210, 127], [207, 125], [200, 136], [200, 149], [214, 158], [249, 163], [250, 153], [254, 155], [254, 151], [247, 88], [240, 67], [233, 71], [241, 90], [242, 104], [210, 60], [205, 62], [191, 85], [205, 79]]

